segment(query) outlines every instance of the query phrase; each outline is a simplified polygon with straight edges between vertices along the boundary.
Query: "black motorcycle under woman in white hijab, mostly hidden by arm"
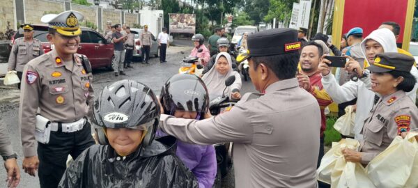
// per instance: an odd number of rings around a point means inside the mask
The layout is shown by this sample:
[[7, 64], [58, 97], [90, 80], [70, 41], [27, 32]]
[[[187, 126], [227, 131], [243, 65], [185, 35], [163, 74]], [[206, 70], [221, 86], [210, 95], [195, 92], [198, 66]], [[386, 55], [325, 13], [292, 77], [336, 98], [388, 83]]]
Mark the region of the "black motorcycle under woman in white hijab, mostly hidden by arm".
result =
[[[235, 76], [228, 77], [225, 81], [225, 89], [231, 86], [235, 81]], [[225, 91], [224, 89], [224, 91]], [[209, 111], [212, 116], [216, 116], [224, 111], [229, 111], [238, 100], [230, 99], [228, 96], [222, 95], [211, 99], [209, 104]], [[228, 173], [230, 164], [232, 163], [232, 156], [229, 157], [229, 146], [233, 146], [231, 143], [217, 143], [214, 144], [217, 160], [217, 175], [213, 187], [221, 187], [222, 178]]]

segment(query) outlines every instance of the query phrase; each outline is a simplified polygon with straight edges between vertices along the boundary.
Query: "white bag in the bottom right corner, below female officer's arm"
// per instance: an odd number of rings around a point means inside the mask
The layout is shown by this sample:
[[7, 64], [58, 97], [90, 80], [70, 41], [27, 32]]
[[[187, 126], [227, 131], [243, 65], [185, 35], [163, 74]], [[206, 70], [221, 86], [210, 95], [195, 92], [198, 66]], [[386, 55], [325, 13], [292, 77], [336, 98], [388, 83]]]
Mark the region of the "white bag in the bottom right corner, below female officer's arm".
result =
[[380, 152], [366, 172], [376, 187], [418, 187], [417, 132], [410, 132], [405, 139], [396, 136], [394, 141]]

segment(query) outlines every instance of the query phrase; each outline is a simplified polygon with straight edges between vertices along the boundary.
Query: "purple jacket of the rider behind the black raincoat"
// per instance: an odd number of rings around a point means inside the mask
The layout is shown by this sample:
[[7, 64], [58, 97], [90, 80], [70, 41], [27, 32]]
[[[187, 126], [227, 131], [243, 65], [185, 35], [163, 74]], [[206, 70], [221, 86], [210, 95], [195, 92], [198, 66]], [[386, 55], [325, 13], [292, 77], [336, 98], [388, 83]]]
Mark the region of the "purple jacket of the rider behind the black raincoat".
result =
[[[167, 136], [167, 134], [157, 130], [155, 136]], [[215, 147], [177, 140], [176, 155], [194, 173], [199, 182], [199, 188], [212, 187], [217, 172]]]

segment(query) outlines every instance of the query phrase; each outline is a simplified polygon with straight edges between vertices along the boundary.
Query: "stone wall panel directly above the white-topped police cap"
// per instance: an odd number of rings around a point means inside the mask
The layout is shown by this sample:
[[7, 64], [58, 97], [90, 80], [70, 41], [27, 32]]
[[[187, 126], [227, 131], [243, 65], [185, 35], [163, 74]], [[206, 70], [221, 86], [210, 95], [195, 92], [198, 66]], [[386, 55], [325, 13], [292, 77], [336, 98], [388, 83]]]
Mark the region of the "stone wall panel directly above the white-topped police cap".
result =
[[52, 13], [61, 13], [64, 11], [64, 3], [45, 0], [25, 0], [24, 3], [26, 23], [40, 24], [40, 17]]

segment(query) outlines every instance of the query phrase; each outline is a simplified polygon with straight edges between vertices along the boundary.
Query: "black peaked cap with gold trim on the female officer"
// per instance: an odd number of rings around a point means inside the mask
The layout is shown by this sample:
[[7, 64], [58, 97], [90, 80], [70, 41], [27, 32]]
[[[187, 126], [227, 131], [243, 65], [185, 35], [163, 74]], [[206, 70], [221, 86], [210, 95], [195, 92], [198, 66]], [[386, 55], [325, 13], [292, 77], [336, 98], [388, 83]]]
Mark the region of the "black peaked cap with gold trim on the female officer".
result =
[[377, 54], [374, 63], [367, 69], [371, 72], [389, 72], [398, 70], [403, 72], [410, 72], [415, 59], [405, 54], [396, 52], [387, 52]]

